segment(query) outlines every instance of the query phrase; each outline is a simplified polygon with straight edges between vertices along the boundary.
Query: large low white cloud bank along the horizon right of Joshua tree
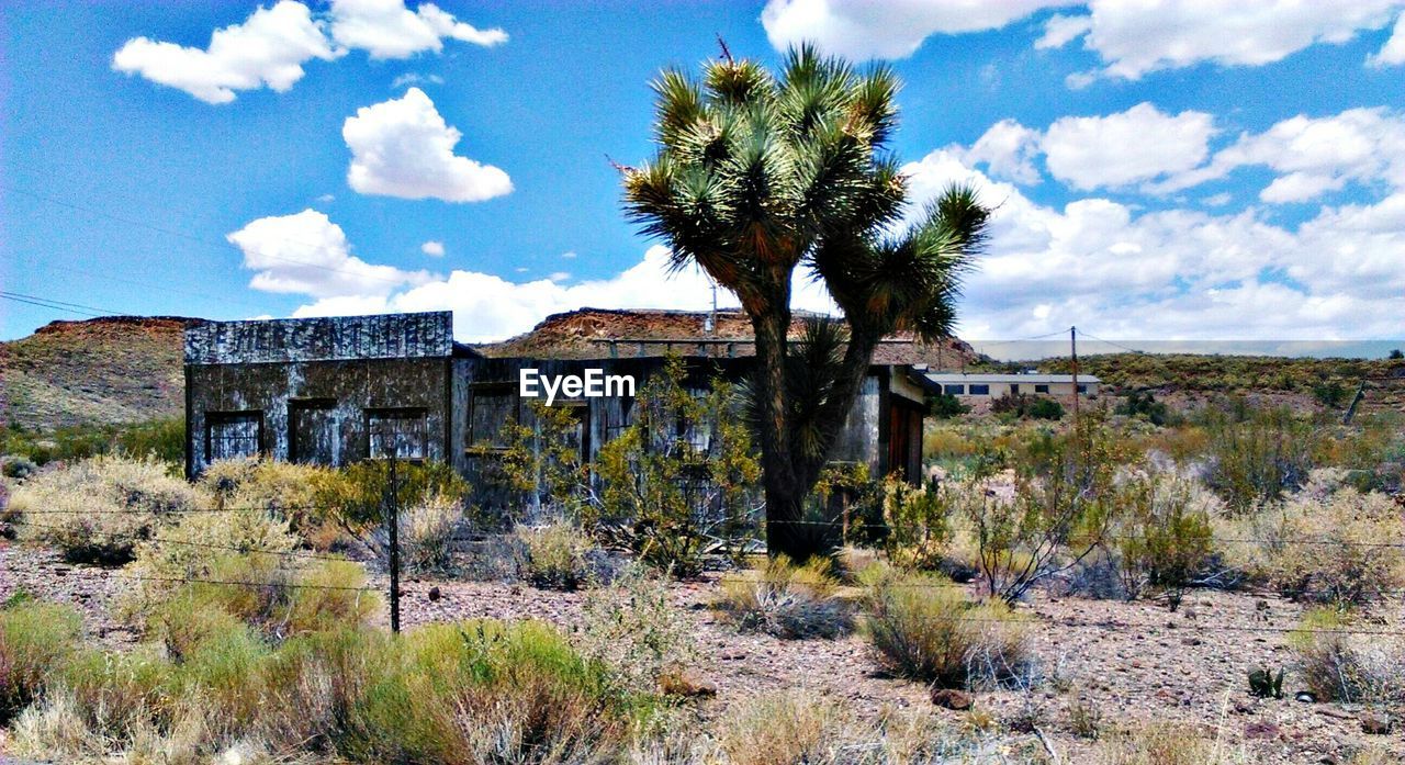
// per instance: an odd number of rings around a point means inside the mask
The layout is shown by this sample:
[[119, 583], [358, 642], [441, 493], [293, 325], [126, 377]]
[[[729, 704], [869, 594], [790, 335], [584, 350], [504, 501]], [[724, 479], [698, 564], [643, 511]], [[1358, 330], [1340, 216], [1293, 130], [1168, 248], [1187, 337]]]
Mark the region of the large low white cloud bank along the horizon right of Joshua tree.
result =
[[961, 334], [968, 338], [1071, 324], [1146, 341], [1399, 333], [1405, 192], [1374, 205], [1325, 208], [1291, 230], [1253, 211], [1139, 213], [1100, 198], [1050, 208], [951, 150], [903, 171], [919, 202], [951, 181], [974, 182], [988, 202], [999, 202], [991, 251], [967, 282]]

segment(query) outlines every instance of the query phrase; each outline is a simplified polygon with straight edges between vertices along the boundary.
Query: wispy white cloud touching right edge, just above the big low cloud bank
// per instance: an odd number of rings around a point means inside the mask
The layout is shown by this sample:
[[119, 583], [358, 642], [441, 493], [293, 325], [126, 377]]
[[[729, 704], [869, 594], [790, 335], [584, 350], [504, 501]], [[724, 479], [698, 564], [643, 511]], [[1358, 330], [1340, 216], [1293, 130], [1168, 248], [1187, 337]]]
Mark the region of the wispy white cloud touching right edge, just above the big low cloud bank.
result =
[[1305, 202], [1347, 182], [1405, 189], [1405, 115], [1385, 108], [1356, 108], [1319, 118], [1298, 115], [1262, 133], [1241, 135], [1210, 163], [1156, 188], [1189, 188], [1250, 166], [1277, 173], [1259, 192], [1270, 204]]

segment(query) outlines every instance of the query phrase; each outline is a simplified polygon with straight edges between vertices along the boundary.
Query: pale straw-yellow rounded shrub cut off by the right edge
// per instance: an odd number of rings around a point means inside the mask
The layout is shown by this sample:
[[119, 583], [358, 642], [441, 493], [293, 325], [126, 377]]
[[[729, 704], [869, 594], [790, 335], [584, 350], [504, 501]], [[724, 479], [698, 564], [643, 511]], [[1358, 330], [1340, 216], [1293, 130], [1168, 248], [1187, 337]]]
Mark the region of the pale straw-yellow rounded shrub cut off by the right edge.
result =
[[1405, 533], [1398, 507], [1378, 493], [1304, 491], [1262, 511], [1264, 576], [1287, 597], [1353, 608], [1405, 587], [1405, 554], [1380, 545]]

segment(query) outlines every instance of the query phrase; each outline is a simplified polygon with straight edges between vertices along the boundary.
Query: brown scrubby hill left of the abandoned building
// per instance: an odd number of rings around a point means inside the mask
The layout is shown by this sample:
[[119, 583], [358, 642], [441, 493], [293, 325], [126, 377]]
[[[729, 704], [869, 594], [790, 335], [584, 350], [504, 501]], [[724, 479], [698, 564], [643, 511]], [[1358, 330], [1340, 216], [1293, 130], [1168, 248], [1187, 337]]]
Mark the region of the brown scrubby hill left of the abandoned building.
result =
[[138, 423], [184, 408], [180, 316], [52, 321], [0, 342], [0, 417], [25, 430]]

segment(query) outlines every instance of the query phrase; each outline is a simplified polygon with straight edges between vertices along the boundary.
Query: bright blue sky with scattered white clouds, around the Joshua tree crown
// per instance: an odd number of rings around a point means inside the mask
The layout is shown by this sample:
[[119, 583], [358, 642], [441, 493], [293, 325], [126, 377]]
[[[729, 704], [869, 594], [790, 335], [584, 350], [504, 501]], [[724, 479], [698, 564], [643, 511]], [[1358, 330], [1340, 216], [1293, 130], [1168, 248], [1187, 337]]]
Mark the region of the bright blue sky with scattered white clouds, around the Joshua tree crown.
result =
[[0, 300], [0, 337], [454, 309], [486, 340], [701, 309], [610, 160], [651, 154], [649, 79], [717, 35], [896, 69], [915, 199], [972, 180], [1000, 205], [967, 337], [1405, 335], [1405, 0], [1132, 6], [11, 3], [0, 291], [72, 312]]

